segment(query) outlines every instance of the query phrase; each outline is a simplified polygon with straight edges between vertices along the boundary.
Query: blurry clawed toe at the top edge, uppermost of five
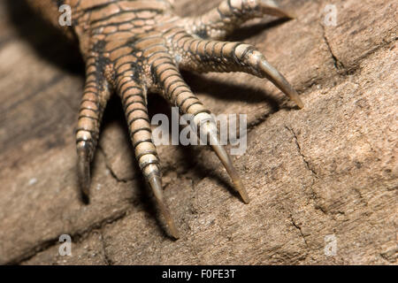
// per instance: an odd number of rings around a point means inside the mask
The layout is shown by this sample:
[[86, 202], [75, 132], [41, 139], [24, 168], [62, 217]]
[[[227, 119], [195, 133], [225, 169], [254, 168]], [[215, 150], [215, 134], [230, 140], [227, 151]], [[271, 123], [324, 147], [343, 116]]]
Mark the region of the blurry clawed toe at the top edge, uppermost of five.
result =
[[245, 21], [265, 14], [292, 18], [273, 0], [226, 0], [202, 16], [188, 18], [187, 27], [189, 32], [202, 38], [220, 40]]

